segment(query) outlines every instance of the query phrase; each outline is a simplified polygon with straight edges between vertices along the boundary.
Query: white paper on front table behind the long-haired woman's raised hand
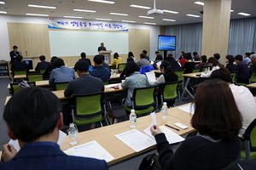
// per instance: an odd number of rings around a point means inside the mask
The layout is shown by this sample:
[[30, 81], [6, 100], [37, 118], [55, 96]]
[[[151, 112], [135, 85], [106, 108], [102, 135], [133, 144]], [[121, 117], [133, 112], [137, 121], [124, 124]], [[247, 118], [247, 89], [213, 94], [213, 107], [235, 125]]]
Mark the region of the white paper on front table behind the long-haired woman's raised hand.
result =
[[[154, 139], [154, 136], [151, 134], [150, 132], [150, 127], [146, 128], [145, 130], [143, 130], [145, 133], [148, 134], [148, 136], [150, 136], [151, 138]], [[160, 126], [160, 129], [163, 133], [166, 134], [166, 139], [168, 140], [169, 144], [175, 144], [177, 142], [182, 142], [184, 139], [183, 137], [179, 136], [177, 133], [172, 132], [172, 130], [170, 130], [169, 128], [165, 127], [165, 126]]]

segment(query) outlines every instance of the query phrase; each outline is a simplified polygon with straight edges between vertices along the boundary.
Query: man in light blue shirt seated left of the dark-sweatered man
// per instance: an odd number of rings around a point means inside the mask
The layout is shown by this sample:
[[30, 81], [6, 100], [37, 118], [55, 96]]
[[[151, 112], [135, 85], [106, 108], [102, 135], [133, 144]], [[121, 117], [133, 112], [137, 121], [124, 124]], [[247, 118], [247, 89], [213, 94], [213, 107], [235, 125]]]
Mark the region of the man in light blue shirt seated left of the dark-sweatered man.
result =
[[56, 69], [50, 72], [49, 84], [54, 82], [70, 82], [76, 79], [74, 70], [66, 67], [63, 59], [56, 59], [54, 65]]

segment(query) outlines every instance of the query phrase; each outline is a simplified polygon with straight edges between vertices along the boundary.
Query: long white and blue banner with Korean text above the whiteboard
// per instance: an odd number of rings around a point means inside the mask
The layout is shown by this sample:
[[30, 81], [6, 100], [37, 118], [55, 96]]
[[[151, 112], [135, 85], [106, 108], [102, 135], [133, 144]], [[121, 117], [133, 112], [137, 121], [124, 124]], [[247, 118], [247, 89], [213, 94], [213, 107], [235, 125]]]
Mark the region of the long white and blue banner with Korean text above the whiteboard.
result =
[[97, 20], [48, 19], [48, 28], [78, 29], [99, 31], [128, 31], [128, 23], [107, 22]]

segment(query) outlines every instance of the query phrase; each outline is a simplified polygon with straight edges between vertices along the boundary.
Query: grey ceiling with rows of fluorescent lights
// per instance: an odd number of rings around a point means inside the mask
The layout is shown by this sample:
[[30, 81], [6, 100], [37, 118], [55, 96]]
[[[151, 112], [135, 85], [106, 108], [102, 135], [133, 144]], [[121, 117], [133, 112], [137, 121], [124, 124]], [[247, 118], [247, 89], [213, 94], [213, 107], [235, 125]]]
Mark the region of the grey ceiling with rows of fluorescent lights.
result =
[[[203, 6], [194, 4], [196, 0], [156, 0], [156, 8], [178, 11], [179, 14], [164, 13], [156, 16], [154, 20], [139, 18], [139, 15], [147, 16], [148, 9], [131, 8], [130, 4], [138, 4], [143, 6], [154, 6], [154, 0], [112, 0], [116, 3], [95, 3], [87, 0], [0, 0], [5, 4], [0, 4], [0, 11], [7, 11], [8, 14], [25, 15], [26, 13], [33, 14], [49, 14], [49, 17], [63, 18], [64, 15], [83, 16], [84, 20], [94, 20], [95, 18], [112, 19], [113, 21], [121, 20], [136, 20], [137, 23], [144, 22], [156, 23], [159, 26], [171, 26], [188, 23], [202, 22]], [[65, 2], [64, 4], [57, 3], [58, 1]], [[201, 0], [203, 2], [203, 0]], [[27, 4], [55, 6], [55, 9], [48, 8], [32, 8]], [[241, 19], [256, 17], [256, 0], [232, 0], [231, 9], [235, 10], [231, 13], [231, 19]], [[73, 11], [73, 8], [96, 10], [96, 13], [84, 13]], [[128, 16], [119, 16], [109, 14], [110, 12], [129, 14]], [[248, 17], [237, 13], [244, 12], [252, 14]], [[186, 16], [186, 14], [201, 15], [200, 18]], [[172, 21], [164, 21], [162, 19], [172, 19]]]

